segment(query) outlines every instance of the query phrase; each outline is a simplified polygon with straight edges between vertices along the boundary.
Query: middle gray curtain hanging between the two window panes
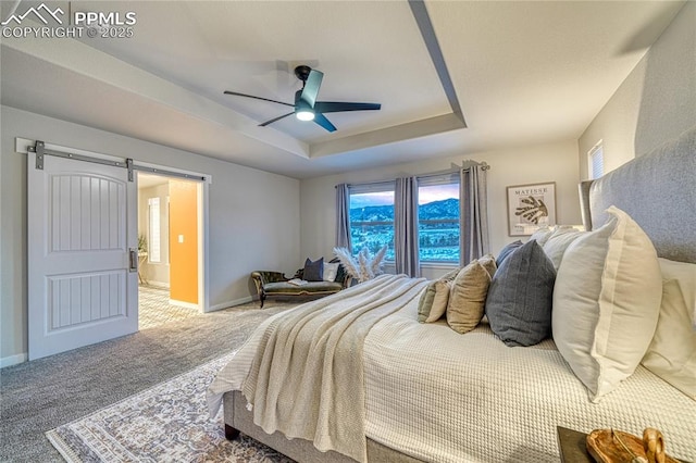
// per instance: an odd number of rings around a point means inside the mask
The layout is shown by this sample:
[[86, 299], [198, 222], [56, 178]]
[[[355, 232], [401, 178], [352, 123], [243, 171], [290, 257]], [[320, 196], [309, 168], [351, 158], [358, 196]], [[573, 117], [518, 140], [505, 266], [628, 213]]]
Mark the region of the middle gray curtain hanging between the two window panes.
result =
[[394, 190], [394, 254], [396, 273], [421, 276], [418, 247], [418, 179], [397, 178]]

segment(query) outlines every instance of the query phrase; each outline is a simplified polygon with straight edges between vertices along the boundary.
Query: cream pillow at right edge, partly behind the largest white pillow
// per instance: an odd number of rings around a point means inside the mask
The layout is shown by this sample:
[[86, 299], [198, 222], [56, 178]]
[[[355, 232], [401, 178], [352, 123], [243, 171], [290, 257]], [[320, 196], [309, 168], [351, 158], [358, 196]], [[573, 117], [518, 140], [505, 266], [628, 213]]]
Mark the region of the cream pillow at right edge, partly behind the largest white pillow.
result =
[[696, 400], [696, 264], [659, 262], [662, 304], [643, 365]]

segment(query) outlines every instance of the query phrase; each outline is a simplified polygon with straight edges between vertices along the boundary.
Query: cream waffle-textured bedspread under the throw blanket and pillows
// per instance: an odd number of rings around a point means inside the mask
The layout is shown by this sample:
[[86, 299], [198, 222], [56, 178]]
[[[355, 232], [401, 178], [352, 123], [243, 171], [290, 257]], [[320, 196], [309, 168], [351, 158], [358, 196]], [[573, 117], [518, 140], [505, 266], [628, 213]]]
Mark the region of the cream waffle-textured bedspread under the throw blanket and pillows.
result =
[[[600, 403], [554, 342], [508, 348], [487, 324], [459, 335], [417, 321], [418, 298], [364, 345], [365, 435], [430, 462], [558, 462], [556, 427], [659, 428], [672, 456], [696, 461], [696, 402], [644, 367]], [[277, 315], [282, 316], [282, 314]], [[240, 390], [266, 321], [213, 381], [212, 412]]]

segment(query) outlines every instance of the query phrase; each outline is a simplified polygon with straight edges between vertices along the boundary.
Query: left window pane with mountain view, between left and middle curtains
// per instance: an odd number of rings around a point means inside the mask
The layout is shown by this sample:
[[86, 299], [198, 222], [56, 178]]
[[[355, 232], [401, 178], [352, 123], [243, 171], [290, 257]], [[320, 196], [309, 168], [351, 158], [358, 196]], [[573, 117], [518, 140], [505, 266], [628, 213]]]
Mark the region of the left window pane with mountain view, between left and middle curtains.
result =
[[385, 259], [394, 261], [394, 183], [350, 187], [350, 240], [353, 254], [371, 253], [387, 245]]

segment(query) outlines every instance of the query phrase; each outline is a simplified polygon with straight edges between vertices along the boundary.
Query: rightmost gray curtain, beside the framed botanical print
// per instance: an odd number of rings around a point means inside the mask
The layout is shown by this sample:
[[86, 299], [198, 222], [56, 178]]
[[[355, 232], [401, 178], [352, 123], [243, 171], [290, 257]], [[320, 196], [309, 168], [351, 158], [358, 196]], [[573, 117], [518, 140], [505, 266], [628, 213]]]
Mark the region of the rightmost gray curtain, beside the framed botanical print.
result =
[[467, 265], [490, 252], [488, 242], [487, 166], [462, 168], [459, 183], [459, 263]]

